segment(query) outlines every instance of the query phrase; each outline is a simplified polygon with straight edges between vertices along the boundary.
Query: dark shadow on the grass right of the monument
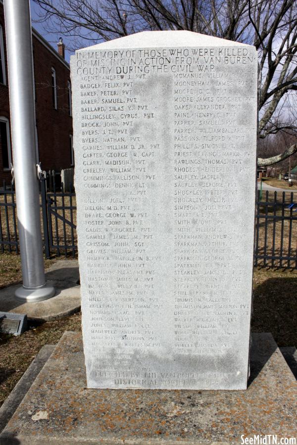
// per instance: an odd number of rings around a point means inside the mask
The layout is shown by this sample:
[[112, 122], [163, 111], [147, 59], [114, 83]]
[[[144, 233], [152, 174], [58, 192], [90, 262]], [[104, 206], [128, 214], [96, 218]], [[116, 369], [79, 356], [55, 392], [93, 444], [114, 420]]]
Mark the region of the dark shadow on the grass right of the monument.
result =
[[297, 277], [268, 278], [254, 287], [252, 332], [271, 332], [278, 346], [297, 346]]

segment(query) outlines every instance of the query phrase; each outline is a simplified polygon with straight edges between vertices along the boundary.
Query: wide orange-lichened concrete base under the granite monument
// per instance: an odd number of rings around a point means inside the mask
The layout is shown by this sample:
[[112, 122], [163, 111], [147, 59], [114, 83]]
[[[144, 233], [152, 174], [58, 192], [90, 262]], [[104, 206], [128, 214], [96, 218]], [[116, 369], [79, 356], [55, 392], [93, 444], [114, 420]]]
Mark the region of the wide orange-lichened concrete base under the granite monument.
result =
[[296, 379], [271, 334], [252, 339], [246, 391], [96, 390], [86, 388], [81, 333], [66, 332], [0, 444], [209, 445], [295, 437]]

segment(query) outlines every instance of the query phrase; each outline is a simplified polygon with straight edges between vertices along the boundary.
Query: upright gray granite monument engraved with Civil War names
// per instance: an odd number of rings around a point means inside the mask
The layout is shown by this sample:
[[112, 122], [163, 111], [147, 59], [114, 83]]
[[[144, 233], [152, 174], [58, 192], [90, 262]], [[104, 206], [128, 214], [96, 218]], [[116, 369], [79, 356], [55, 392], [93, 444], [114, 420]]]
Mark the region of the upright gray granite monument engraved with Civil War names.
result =
[[88, 386], [245, 389], [255, 48], [144, 32], [71, 78]]

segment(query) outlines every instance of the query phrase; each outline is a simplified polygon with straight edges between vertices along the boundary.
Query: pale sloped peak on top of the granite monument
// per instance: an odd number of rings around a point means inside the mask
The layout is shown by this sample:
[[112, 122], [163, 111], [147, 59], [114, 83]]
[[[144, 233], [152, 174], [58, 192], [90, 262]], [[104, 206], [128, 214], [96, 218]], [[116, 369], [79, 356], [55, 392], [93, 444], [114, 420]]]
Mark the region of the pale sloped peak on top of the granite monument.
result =
[[250, 46], [218, 37], [206, 36], [192, 31], [142, 31], [130, 36], [110, 40], [97, 45], [82, 48], [86, 49], [115, 49], [139, 47], [164, 46]]

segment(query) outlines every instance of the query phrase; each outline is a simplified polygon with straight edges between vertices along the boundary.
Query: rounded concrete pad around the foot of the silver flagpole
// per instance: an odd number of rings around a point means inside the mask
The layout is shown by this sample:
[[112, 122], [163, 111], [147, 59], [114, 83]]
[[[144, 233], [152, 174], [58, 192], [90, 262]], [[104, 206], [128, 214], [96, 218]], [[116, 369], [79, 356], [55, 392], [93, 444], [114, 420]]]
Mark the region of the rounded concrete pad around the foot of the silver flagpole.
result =
[[55, 296], [49, 300], [22, 303], [14, 298], [19, 288], [0, 289], [0, 311], [27, 314], [29, 320], [50, 321], [80, 310], [80, 285], [77, 260], [59, 260], [46, 272], [47, 284], [54, 286]]

